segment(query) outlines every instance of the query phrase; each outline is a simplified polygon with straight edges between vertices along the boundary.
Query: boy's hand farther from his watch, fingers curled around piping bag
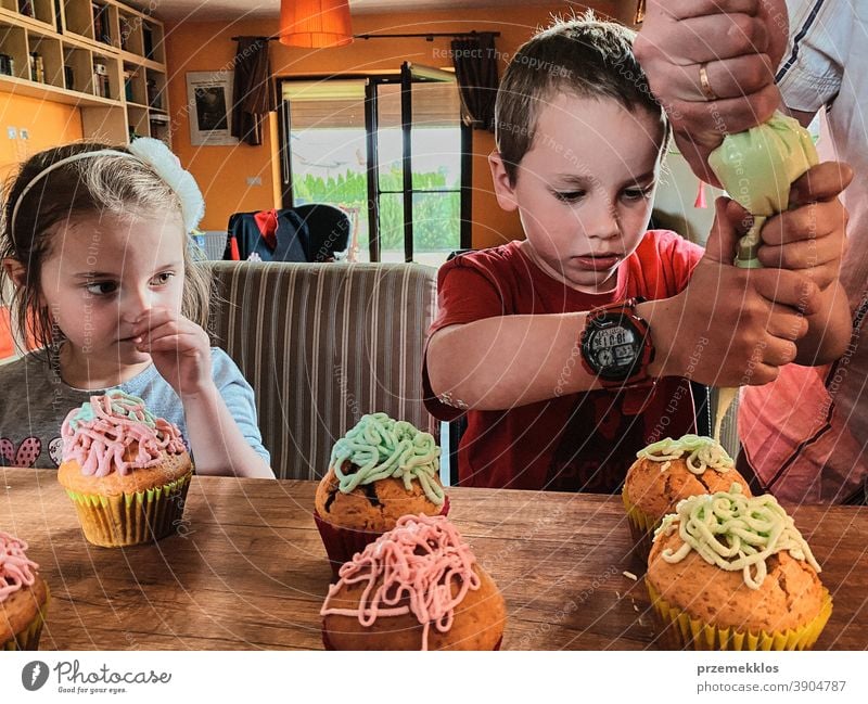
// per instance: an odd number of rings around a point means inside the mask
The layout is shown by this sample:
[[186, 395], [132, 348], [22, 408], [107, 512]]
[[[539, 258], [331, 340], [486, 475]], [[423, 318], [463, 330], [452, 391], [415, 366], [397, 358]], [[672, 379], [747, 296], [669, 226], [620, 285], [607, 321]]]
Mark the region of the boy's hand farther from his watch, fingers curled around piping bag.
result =
[[758, 252], [763, 266], [799, 271], [820, 291], [834, 283], [846, 248], [847, 221], [838, 195], [852, 180], [850, 166], [827, 162], [795, 181], [790, 209], [763, 226]]

